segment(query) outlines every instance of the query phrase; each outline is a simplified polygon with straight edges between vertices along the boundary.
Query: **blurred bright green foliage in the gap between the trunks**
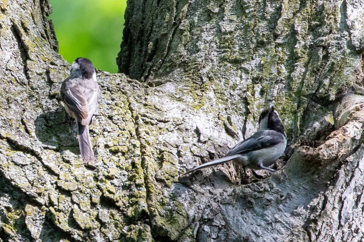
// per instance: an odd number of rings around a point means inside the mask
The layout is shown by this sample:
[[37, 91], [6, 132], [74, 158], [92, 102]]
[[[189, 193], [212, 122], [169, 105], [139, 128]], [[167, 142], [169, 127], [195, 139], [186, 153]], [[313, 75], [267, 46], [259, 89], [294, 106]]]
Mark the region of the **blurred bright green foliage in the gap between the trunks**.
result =
[[72, 63], [86, 57], [97, 69], [116, 73], [126, 0], [50, 0], [59, 54]]

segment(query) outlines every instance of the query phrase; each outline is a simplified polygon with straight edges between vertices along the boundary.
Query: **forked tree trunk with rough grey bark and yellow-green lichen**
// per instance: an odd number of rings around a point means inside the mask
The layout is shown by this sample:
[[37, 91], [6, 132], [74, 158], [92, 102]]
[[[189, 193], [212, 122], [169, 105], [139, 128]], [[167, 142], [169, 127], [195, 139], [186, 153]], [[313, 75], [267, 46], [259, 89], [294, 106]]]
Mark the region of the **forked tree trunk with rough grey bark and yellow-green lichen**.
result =
[[[0, 242], [361, 241], [363, 1], [128, 0], [119, 70], [98, 73], [98, 160], [59, 97], [47, 0], [0, 1]], [[279, 171], [223, 156], [274, 104]], [[212, 171], [212, 172], [211, 172]]]

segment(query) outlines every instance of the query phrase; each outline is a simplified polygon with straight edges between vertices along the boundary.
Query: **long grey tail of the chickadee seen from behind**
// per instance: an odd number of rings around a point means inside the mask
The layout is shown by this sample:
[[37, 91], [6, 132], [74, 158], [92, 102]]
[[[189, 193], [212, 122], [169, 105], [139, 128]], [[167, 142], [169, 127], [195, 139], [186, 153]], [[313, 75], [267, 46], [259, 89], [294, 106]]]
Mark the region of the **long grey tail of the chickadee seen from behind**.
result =
[[80, 146], [80, 152], [85, 164], [90, 164], [95, 161], [94, 151], [92, 151], [90, 133], [88, 131], [88, 125], [82, 125], [77, 122], [78, 127], [78, 143]]

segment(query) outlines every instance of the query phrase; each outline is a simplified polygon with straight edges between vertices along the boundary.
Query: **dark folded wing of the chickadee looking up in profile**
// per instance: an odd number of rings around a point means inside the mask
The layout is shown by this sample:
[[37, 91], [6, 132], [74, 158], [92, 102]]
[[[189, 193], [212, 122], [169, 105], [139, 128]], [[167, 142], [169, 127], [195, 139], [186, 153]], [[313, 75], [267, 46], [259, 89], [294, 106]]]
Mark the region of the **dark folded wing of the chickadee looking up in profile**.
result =
[[227, 152], [226, 156], [267, 148], [280, 143], [283, 138], [284, 137], [282, 134], [274, 130], [258, 131], [248, 139], [237, 143], [232, 149], [229, 150], [229, 152]]

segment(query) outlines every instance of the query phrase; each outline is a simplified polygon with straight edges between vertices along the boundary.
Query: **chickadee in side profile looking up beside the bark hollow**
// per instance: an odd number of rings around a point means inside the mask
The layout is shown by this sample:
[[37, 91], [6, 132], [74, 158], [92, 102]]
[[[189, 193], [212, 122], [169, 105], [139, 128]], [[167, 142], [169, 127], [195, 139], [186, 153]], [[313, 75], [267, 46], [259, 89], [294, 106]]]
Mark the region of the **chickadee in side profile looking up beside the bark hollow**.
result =
[[284, 132], [282, 121], [279, 118], [278, 112], [272, 106], [264, 110], [260, 115], [258, 132], [236, 144], [227, 152], [225, 157], [201, 164], [183, 175], [228, 161], [242, 165], [244, 173], [245, 168], [275, 171], [268, 167], [274, 164], [283, 154], [286, 145], [287, 136]]

